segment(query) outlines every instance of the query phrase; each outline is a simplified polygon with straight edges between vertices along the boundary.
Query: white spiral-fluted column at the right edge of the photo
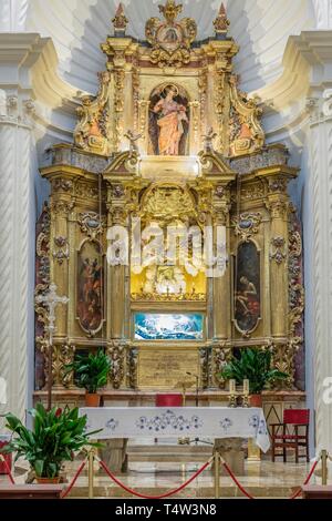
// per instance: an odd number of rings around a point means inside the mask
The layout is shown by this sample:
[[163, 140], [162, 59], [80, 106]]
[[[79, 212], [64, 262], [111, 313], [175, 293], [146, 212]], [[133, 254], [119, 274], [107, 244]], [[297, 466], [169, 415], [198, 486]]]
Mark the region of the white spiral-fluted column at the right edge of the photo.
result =
[[328, 95], [325, 91], [313, 106], [308, 136], [314, 345], [307, 362], [313, 365], [317, 451], [328, 449], [332, 454], [332, 100]]

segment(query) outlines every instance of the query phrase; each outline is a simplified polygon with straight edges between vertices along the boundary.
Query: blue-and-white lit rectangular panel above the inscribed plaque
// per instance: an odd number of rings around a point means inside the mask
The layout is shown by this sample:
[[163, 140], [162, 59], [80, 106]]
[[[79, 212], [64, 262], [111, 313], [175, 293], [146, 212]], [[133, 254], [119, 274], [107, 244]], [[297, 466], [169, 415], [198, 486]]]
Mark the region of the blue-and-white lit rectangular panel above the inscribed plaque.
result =
[[135, 340], [203, 339], [203, 314], [135, 314]]

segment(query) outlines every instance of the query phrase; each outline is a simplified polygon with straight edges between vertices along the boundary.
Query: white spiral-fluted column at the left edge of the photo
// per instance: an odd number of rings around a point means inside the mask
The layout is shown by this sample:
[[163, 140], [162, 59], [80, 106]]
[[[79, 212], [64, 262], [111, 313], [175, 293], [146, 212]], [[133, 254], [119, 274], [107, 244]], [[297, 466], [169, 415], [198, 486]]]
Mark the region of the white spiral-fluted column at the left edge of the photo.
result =
[[[31, 101], [0, 91], [0, 376], [22, 420], [28, 403], [28, 350], [33, 341], [34, 213]], [[0, 423], [1, 428], [1, 423]]]

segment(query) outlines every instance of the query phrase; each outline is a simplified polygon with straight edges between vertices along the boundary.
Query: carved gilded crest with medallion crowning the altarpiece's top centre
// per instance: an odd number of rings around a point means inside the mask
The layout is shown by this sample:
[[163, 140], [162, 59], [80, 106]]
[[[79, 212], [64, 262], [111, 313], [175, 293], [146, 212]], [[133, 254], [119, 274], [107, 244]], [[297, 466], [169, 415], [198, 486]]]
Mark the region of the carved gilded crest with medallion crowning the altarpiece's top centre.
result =
[[190, 44], [196, 39], [197, 24], [191, 18], [176, 21], [183, 6], [177, 6], [175, 0], [167, 0], [165, 6], [159, 6], [159, 11], [166, 21], [151, 18], [145, 28], [146, 39], [153, 47], [151, 61], [162, 68], [181, 67], [190, 60]]

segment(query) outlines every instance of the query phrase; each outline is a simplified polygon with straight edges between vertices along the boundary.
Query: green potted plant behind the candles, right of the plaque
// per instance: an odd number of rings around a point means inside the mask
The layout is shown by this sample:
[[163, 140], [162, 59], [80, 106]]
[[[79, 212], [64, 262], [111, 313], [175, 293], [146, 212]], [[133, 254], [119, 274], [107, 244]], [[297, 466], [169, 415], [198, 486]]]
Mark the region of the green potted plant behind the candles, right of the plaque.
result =
[[269, 350], [248, 348], [241, 350], [239, 358], [232, 357], [220, 377], [224, 380], [234, 379], [237, 384], [249, 380], [250, 405], [261, 407], [262, 391], [276, 381], [287, 380], [289, 375], [272, 368], [272, 356]]

